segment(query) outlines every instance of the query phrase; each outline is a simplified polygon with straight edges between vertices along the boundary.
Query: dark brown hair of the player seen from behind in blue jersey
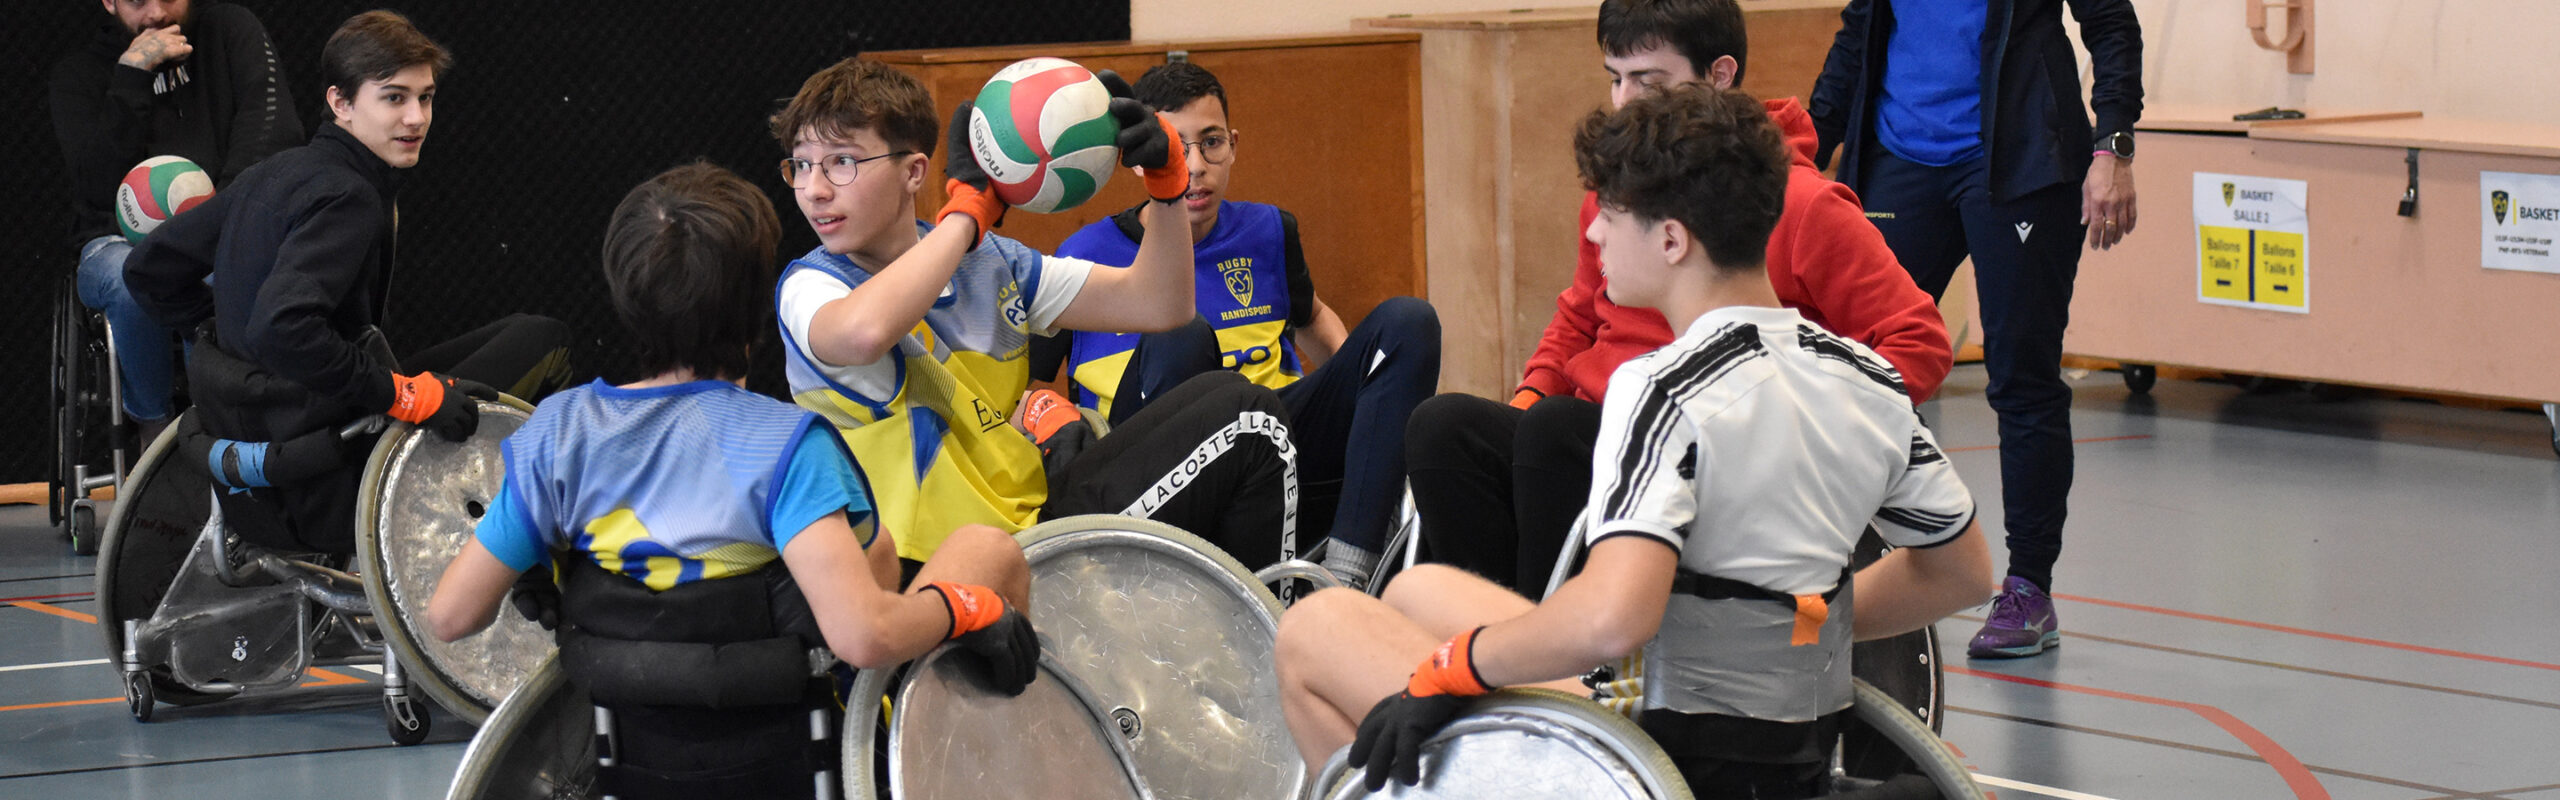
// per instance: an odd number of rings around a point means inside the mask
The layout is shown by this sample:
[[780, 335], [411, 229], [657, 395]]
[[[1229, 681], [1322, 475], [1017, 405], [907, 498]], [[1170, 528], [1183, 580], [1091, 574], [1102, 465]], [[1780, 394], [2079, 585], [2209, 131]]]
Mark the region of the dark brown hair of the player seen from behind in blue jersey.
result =
[[645, 374], [748, 374], [773, 333], [773, 200], [737, 172], [684, 164], [622, 195], [604, 228], [604, 285]]

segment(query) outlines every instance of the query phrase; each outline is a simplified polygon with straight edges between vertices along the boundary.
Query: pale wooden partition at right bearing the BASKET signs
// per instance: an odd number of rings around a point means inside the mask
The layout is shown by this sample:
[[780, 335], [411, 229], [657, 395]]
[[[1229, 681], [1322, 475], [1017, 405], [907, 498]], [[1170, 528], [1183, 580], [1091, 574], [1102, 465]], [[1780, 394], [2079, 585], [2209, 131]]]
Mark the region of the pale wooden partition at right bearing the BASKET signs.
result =
[[[2560, 274], [2481, 267], [2481, 172], [2560, 174], [2560, 128], [2396, 118], [2143, 133], [2143, 226], [2081, 259], [2071, 354], [2560, 400]], [[2417, 215], [2396, 213], [2419, 149]], [[2309, 182], [2309, 313], [2196, 303], [2194, 172]]]

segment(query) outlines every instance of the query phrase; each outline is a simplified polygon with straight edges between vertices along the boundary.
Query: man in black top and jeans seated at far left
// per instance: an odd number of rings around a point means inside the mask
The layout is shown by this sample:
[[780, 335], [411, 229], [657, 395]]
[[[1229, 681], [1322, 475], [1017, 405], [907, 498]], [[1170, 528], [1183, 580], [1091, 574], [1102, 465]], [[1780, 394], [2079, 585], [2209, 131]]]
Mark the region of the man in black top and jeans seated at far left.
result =
[[105, 10], [97, 36], [54, 64], [54, 138], [72, 177], [79, 303], [115, 326], [125, 415], [154, 433], [172, 413], [169, 328], [125, 290], [133, 244], [115, 228], [115, 187], [148, 156], [184, 156], [225, 190], [302, 144], [302, 121], [276, 46], [246, 8], [105, 0]]

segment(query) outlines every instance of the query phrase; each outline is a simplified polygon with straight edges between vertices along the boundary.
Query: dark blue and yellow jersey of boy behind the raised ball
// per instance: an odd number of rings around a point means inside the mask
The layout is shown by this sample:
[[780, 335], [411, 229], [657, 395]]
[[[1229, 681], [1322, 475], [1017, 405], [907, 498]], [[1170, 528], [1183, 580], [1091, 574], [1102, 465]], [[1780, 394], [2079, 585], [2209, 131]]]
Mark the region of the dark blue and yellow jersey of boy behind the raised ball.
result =
[[[1137, 262], [1139, 236], [1137, 210], [1126, 210], [1075, 231], [1057, 254], [1129, 264]], [[1272, 390], [1295, 382], [1303, 369], [1298, 341], [1288, 333], [1308, 326], [1316, 310], [1298, 221], [1277, 205], [1221, 200], [1219, 223], [1193, 244], [1193, 264], [1196, 308], [1219, 333], [1219, 367]], [[1073, 333], [1068, 377], [1075, 405], [1111, 413], [1137, 341], [1139, 333]]]

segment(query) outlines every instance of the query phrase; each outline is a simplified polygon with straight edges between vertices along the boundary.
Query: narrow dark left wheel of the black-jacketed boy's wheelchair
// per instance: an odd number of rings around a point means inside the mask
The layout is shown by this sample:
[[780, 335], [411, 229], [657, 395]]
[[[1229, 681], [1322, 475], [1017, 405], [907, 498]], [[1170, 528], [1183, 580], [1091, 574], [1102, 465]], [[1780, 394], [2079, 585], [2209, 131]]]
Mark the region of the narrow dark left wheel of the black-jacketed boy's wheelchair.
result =
[[[212, 515], [212, 487], [205, 472], [169, 464], [177, 451], [177, 431], [179, 426], [161, 431], [136, 459], [97, 546], [97, 631], [105, 636], [108, 662], [120, 662], [125, 654], [125, 621], [151, 618], [151, 610], [169, 595], [205, 518]], [[148, 695], [159, 703], [200, 705], [230, 697], [189, 690], [164, 672], [146, 674]]]

